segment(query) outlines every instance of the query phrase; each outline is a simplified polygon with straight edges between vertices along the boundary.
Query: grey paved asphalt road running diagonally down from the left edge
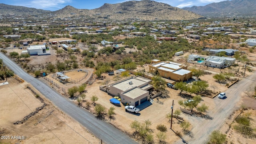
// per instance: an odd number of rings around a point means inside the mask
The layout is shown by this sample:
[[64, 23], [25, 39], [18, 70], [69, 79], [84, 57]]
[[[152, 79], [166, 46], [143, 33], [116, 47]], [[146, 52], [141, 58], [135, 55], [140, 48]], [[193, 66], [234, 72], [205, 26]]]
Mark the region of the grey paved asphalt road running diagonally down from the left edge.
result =
[[93, 114], [76, 106], [73, 102], [67, 98], [61, 96], [56, 90], [50, 86], [34, 78], [30, 74], [26, 73], [20, 66], [10, 60], [7, 56], [0, 52], [0, 58], [3, 59], [4, 64], [14, 71], [20, 78], [25, 80], [34, 86], [41, 94], [52, 101], [58, 108], [66, 112], [72, 118], [80, 122], [90, 132], [92, 132], [97, 138], [102, 139], [106, 144], [138, 144], [138, 142], [132, 140], [129, 136], [116, 129], [114, 126], [95, 118]]

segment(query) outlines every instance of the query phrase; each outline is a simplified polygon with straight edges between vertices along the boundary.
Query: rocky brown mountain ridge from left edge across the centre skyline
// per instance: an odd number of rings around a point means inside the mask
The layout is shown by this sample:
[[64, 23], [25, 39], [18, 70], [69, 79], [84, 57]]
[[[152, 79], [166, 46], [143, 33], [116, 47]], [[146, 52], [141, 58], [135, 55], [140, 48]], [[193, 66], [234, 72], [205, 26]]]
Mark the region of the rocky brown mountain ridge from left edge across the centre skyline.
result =
[[[8, 10], [9, 9], [9, 10]], [[10, 10], [12, 9], [12, 10]], [[24, 12], [24, 10], [27, 12]], [[152, 0], [127, 1], [118, 4], [104, 4], [93, 10], [66, 6], [60, 10], [46, 11], [23, 6], [0, 4], [0, 14], [55, 14], [58, 18], [83, 16], [87, 18], [108, 18], [111, 20], [190, 20], [201, 18], [199, 14]]]

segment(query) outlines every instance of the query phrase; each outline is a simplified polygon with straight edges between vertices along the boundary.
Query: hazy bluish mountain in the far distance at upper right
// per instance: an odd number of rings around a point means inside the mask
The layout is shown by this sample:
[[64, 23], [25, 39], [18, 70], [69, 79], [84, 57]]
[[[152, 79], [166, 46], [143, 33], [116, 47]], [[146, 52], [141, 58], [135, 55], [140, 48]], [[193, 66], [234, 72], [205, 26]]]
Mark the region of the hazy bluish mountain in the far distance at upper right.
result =
[[255, 16], [256, 0], [226, 0], [182, 9], [202, 16]]

